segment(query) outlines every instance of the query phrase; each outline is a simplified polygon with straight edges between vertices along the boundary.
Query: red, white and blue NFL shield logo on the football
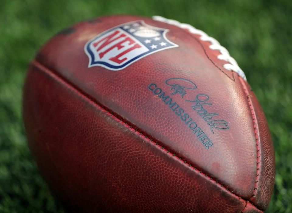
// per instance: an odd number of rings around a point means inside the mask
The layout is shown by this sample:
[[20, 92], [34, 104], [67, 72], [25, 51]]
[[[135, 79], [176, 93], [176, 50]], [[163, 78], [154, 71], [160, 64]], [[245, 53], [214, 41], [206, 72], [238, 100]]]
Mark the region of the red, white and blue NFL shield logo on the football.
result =
[[166, 38], [168, 31], [142, 20], [113, 27], [85, 44], [88, 67], [120, 70], [157, 51], [178, 47]]

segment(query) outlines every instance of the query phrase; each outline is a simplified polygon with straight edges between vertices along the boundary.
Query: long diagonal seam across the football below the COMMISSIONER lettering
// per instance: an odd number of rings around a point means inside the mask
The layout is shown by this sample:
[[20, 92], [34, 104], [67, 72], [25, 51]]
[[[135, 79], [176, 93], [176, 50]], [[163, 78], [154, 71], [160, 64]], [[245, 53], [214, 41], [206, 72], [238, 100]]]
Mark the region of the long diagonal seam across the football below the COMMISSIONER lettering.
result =
[[[33, 62], [31, 62], [31, 65], [35, 66], [36, 68], [38, 68], [39, 70], [43, 71], [44, 73], [47, 73], [49, 76], [51, 76], [53, 79], [59, 81], [59, 83], [61, 83], [65, 87], [75, 91], [82, 98], [85, 98], [87, 101], [89, 101], [89, 103], [91, 103], [91, 104], [95, 105], [96, 107], [98, 107], [102, 112], [106, 113], [109, 117], [111, 117], [114, 120], [116, 120], [116, 122], [118, 122], [121, 125], [127, 127], [128, 129], [130, 129], [133, 133], [135, 133], [137, 136], [141, 137], [143, 140], [148, 141], [150, 144], [155, 145], [160, 150], [164, 151], [166, 154], [169, 154], [173, 158], [176, 158], [176, 160], [181, 162], [182, 165], [185, 165], [186, 167], [188, 167], [192, 171], [197, 172], [201, 176], [209, 179], [209, 181], [211, 181], [213, 184], [216, 184], [216, 185], [220, 186], [219, 188], [222, 188], [222, 189], [228, 191], [231, 195], [235, 196], [239, 200], [243, 200], [243, 201], [245, 201], [245, 203], [246, 202], [250, 202], [253, 206], [255, 206], [255, 208], [259, 209], [255, 204], [252, 203], [252, 201], [249, 201], [247, 199], [243, 199], [241, 196], [239, 196], [236, 193], [234, 193], [234, 191], [230, 191], [227, 186], [225, 187], [223, 184], [219, 183], [217, 180], [215, 180], [212, 177], [208, 176], [207, 173], [204, 173], [201, 170], [197, 169], [196, 166], [192, 166], [191, 164], [187, 163], [187, 160], [182, 160], [182, 157], [176, 156], [176, 153], [172, 153], [169, 149], [166, 149], [164, 146], [158, 144], [158, 142], [156, 142], [156, 139], [153, 140], [153, 139], [151, 139], [151, 137], [148, 137], [148, 134], [143, 133], [142, 131], [138, 131], [138, 128], [135, 125], [132, 125], [132, 123], [130, 121], [128, 121], [127, 119], [122, 118], [122, 116], [120, 116], [117, 113], [113, 112], [111, 109], [109, 109], [109, 108], [103, 106], [102, 104], [98, 103], [95, 98], [93, 98], [92, 96], [87, 94], [85, 91], [82, 91], [79, 87], [77, 87], [75, 84], [73, 84], [70, 81], [68, 81], [64, 76], [62, 76], [61, 74], [57, 73], [55, 70], [53, 70], [51, 68], [50, 69], [47, 68], [45, 65], [43, 65], [41, 62], [39, 62], [37, 60], [34, 60]], [[246, 204], [245, 204], [245, 206], [246, 206]], [[262, 211], [262, 210], [260, 210], [260, 211]]]

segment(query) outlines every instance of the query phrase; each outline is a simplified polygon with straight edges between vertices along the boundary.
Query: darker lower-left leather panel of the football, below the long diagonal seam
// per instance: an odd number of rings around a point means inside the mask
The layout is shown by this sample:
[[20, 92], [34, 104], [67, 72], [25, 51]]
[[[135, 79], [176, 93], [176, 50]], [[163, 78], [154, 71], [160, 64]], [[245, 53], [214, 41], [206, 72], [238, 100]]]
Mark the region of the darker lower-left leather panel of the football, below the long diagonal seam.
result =
[[24, 97], [26, 129], [38, 166], [72, 210], [239, 212], [245, 206], [243, 199], [48, 71], [30, 68]]

